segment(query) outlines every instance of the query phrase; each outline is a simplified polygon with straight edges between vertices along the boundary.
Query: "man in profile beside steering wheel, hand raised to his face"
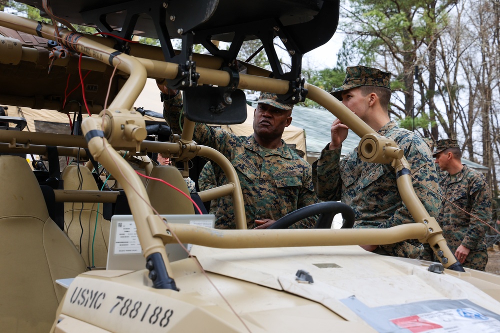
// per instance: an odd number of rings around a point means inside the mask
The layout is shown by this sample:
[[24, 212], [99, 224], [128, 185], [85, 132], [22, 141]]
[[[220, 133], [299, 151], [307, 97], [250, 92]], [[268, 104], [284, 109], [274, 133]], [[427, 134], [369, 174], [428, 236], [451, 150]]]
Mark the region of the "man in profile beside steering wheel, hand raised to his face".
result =
[[[373, 130], [404, 150], [411, 167], [413, 188], [430, 216], [439, 213], [440, 199], [425, 186], [439, 192], [437, 175], [429, 146], [417, 134], [399, 128], [388, 116], [390, 73], [364, 66], [347, 67], [342, 86], [331, 94]], [[348, 127], [339, 119], [331, 124], [331, 141], [313, 163], [313, 181], [321, 200], [338, 201], [352, 207], [354, 228], [389, 228], [413, 219], [403, 205], [396, 186], [396, 175], [388, 164], [362, 161], [357, 148], [340, 159], [342, 142]], [[420, 182], [420, 183], [419, 183]], [[423, 250], [417, 240], [390, 245], [363, 245], [381, 255], [416, 258]]]

